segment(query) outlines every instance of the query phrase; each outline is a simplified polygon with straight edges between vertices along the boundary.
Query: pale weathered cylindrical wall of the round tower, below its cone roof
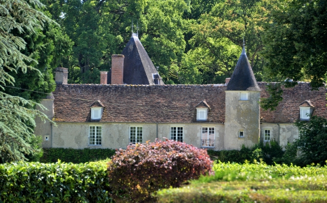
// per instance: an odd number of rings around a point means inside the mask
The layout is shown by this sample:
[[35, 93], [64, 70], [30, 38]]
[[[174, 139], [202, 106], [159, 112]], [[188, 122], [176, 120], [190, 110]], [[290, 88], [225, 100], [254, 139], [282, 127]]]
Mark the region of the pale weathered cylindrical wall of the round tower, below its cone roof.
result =
[[[240, 100], [240, 93], [248, 93], [248, 100]], [[225, 137], [224, 149], [240, 149], [242, 144], [253, 146], [260, 137], [260, 92], [225, 91]], [[244, 138], [239, 138], [239, 131]]]

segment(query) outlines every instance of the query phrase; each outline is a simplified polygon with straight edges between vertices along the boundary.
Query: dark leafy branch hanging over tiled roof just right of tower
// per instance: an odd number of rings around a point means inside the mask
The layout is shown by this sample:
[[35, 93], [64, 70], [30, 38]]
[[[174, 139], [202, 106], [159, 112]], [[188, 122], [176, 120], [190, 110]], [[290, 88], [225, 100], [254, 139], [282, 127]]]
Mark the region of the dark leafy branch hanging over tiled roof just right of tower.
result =
[[266, 87], [269, 97], [260, 99], [260, 107], [264, 110], [276, 110], [279, 102], [283, 100], [283, 89], [281, 87], [281, 83], [270, 83], [266, 85]]

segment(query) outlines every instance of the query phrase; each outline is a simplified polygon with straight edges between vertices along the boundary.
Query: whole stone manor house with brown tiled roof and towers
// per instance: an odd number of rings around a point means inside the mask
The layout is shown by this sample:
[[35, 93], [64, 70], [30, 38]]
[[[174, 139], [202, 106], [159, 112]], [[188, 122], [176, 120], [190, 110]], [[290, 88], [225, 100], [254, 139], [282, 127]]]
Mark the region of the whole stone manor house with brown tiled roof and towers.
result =
[[296, 120], [327, 117], [326, 87], [312, 91], [306, 82], [284, 88], [276, 110], [261, 109], [267, 83], [255, 80], [244, 47], [225, 84], [165, 85], [136, 33], [112, 55], [101, 84], [67, 84], [67, 71], [56, 69], [56, 90], [41, 102], [57, 126], [36, 119], [46, 148], [126, 148], [156, 138], [214, 150], [272, 139], [285, 146], [298, 138]]

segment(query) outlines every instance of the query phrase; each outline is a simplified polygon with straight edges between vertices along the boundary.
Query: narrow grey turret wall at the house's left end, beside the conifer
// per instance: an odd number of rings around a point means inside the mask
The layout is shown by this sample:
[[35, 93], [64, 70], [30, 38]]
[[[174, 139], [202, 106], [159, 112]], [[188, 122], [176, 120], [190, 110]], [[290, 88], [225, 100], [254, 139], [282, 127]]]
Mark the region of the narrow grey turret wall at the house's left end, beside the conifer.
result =
[[[53, 99], [43, 99], [40, 104], [42, 104], [46, 109], [48, 110], [41, 110], [48, 118], [51, 120], [54, 116], [54, 110], [53, 110]], [[34, 134], [36, 136], [42, 136], [43, 148], [50, 148], [51, 147], [51, 123], [49, 121], [42, 121], [40, 118], [35, 118], [36, 127], [34, 129]], [[48, 141], [45, 141], [45, 136], [49, 137]]]

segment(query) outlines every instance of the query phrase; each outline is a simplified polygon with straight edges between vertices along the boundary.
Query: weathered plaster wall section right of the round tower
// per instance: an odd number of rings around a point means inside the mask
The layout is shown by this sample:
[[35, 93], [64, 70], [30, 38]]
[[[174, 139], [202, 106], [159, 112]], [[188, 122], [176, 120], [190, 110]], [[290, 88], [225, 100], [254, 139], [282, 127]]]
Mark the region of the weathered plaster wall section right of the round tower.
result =
[[[279, 126], [278, 126], [279, 125]], [[298, 129], [294, 123], [261, 123], [261, 140], [264, 141], [264, 130], [270, 129], [271, 139], [275, 139], [279, 145], [285, 146], [287, 143], [293, 143], [298, 138]]]

